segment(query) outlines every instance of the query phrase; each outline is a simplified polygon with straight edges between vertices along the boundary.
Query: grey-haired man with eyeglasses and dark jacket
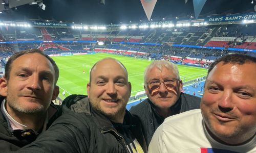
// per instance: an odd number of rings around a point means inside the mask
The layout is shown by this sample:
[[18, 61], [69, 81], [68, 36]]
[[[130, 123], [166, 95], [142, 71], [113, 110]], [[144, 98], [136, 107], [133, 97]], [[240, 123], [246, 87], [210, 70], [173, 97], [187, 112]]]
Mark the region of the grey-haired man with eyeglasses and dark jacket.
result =
[[156, 60], [144, 72], [144, 89], [147, 99], [131, 108], [139, 117], [147, 146], [157, 127], [165, 118], [200, 108], [200, 98], [181, 92], [182, 80], [177, 65]]

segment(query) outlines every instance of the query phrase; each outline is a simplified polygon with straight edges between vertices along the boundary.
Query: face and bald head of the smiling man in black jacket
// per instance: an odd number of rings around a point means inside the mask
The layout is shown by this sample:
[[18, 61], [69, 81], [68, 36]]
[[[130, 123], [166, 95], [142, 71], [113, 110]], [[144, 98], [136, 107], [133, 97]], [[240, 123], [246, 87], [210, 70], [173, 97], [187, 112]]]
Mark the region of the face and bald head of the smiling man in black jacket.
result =
[[110, 59], [98, 62], [91, 72], [87, 94], [95, 110], [111, 120], [123, 118], [131, 95], [131, 84], [124, 68]]

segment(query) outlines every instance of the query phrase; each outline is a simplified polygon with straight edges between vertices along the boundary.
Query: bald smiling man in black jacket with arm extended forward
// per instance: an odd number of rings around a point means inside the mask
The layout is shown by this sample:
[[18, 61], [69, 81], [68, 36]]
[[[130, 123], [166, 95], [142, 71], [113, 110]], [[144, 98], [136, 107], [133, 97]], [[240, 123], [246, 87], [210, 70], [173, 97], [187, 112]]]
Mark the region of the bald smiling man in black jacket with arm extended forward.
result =
[[67, 97], [63, 114], [49, 130], [19, 151], [147, 151], [139, 119], [125, 109], [131, 83], [122, 63], [113, 58], [98, 61], [91, 69], [87, 94]]

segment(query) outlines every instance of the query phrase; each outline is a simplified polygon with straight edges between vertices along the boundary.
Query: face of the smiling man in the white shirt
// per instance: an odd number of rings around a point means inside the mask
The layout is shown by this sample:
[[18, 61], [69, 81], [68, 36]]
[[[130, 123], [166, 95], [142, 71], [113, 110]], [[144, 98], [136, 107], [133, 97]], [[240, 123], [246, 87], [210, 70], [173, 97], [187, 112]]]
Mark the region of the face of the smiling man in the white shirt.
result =
[[256, 132], [256, 64], [222, 64], [207, 77], [201, 112], [212, 135], [238, 144]]

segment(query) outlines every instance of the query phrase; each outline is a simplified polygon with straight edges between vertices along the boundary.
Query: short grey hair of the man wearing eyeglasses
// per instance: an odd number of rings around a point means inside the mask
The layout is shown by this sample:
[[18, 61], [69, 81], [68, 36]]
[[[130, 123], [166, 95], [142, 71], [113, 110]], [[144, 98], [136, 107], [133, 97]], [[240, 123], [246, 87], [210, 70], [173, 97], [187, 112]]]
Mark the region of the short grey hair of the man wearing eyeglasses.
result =
[[153, 61], [150, 65], [148, 65], [144, 71], [144, 84], [146, 84], [147, 73], [154, 67], [157, 67], [159, 70], [162, 70], [163, 67], [167, 68], [168, 70], [173, 70], [174, 73], [177, 75], [177, 79], [180, 79], [180, 73], [178, 70], [177, 65], [172, 62], [164, 61], [164, 60], [156, 60]]

